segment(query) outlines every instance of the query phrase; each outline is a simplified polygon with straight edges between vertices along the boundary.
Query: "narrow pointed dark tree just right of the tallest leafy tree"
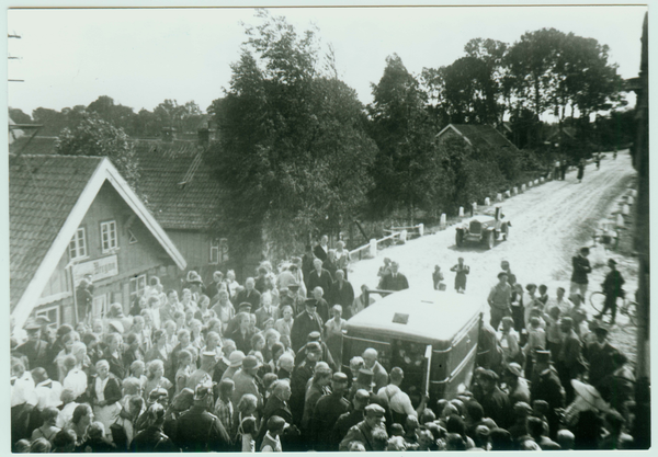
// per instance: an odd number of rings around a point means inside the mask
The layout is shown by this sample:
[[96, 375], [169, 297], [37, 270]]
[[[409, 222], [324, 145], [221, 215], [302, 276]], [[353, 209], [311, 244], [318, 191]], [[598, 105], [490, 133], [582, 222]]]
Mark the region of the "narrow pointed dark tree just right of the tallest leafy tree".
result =
[[404, 208], [411, 221], [417, 207], [432, 208], [441, 176], [428, 95], [395, 54], [386, 58], [384, 75], [372, 88], [371, 134], [379, 152], [372, 170], [371, 203], [378, 215]]

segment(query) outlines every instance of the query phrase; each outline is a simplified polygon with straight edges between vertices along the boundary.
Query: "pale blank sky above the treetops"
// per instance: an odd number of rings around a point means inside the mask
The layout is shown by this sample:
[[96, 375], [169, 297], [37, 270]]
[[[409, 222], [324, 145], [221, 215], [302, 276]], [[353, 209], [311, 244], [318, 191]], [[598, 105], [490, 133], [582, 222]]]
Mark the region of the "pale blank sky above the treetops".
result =
[[[451, 7], [273, 9], [298, 31], [315, 23], [332, 44], [340, 77], [363, 103], [397, 53], [407, 69], [441, 67], [464, 55], [472, 38], [512, 44], [527, 31], [555, 27], [610, 46], [623, 78], [637, 76], [646, 7]], [[100, 95], [152, 110], [164, 99], [195, 101], [205, 112], [223, 95], [245, 41], [251, 9], [10, 10], [9, 105], [88, 105]], [[634, 100], [634, 99], [633, 99]], [[631, 101], [631, 99], [629, 99]]]

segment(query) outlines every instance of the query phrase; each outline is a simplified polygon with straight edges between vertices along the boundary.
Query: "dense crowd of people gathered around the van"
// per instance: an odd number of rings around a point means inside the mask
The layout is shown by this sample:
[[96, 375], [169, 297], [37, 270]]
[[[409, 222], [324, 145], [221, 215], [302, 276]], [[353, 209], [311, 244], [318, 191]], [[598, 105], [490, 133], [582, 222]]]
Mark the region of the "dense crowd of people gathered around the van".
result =
[[[430, 400], [401, 390], [402, 369], [372, 347], [343, 357], [345, 319], [373, 302], [365, 286], [355, 295], [349, 261], [322, 237], [277, 267], [262, 262], [243, 285], [231, 271], [207, 285], [191, 274], [181, 290], [151, 277], [125, 315], [113, 304], [75, 327], [38, 317], [14, 329], [14, 452], [632, 446], [633, 375], [606, 324], [588, 323], [581, 284], [549, 297], [503, 262], [473, 380]], [[464, 292], [468, 267], [452, 271]], [[378, 275], [382, 289], [409, 287], [396, 262]]]

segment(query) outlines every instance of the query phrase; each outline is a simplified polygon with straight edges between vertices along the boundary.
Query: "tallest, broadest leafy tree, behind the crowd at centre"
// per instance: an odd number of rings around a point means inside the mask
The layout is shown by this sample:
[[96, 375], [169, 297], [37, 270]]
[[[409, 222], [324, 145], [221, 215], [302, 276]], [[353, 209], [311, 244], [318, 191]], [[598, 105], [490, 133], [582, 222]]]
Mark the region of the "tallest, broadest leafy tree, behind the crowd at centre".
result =
[[217, 227], [238, 259], [254, 250], [281, 259], [358, 214], [376, 147], [355, 92], [317, 68], [315, 32], [257, 15], [229, 89], [208, 107], [219, 130], [211, 160], [227, 196]]

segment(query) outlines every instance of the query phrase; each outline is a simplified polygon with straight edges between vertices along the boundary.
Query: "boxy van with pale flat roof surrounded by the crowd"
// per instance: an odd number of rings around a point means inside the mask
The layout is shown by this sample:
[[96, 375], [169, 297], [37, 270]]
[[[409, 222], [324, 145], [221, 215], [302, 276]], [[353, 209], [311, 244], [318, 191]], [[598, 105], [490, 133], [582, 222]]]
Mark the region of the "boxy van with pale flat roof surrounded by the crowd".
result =
[[344, 373], [350, 359], [373, 347], [390, 372], [400, 367], [400, 388], [418, 404], [454, 398], [470, 384], [478, 353], [480, 301], [455, 292], [405, 289], [386, 295], [348, 320], [343, 335]]

